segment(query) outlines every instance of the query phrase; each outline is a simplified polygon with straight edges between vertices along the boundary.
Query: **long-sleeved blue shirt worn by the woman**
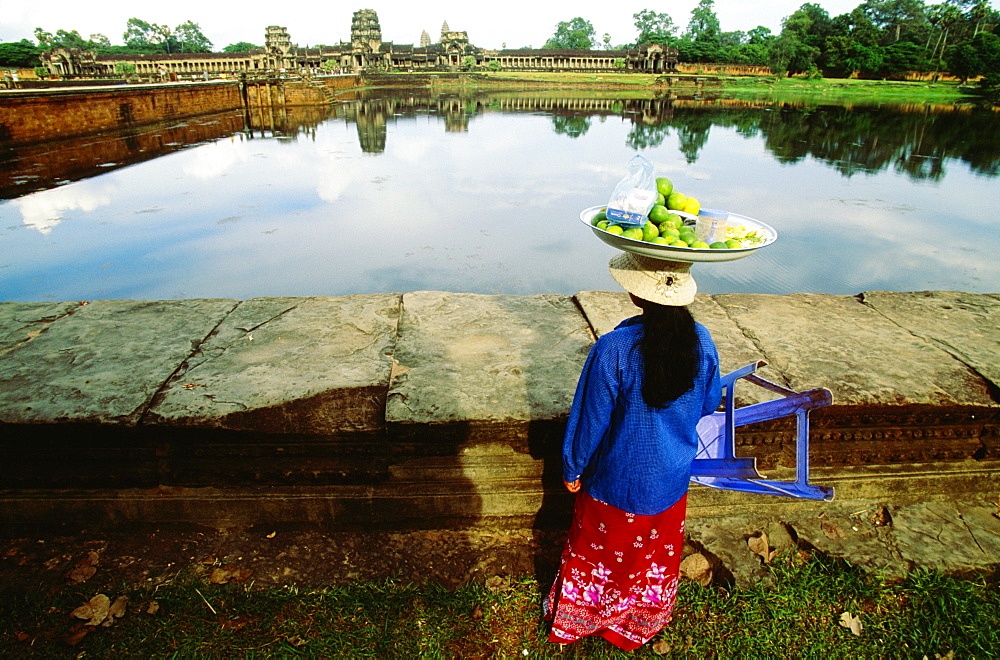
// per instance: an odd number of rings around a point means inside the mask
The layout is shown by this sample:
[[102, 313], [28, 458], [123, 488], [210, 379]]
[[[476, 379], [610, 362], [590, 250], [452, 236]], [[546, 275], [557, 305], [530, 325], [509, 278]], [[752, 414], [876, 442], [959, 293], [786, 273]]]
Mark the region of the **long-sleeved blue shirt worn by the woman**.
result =
[[722, 398], [719, 354], [698, 334], [694, 387], [664, 408], [642, 397], [641, 316], [626, 319], [590, 349], [563, 440], [563, 479], [630, 513], [666, 511], [687, 493], [698, 448], [695, 426]]

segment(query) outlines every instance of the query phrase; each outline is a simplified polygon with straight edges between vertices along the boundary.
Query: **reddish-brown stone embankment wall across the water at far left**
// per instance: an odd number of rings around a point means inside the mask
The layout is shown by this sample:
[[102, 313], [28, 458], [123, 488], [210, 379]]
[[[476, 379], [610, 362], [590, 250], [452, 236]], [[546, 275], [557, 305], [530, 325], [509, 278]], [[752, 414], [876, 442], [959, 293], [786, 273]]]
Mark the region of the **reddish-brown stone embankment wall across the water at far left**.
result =
[[243, 107], [235, 82], [2, 92], [0, 141], [58, 140]]

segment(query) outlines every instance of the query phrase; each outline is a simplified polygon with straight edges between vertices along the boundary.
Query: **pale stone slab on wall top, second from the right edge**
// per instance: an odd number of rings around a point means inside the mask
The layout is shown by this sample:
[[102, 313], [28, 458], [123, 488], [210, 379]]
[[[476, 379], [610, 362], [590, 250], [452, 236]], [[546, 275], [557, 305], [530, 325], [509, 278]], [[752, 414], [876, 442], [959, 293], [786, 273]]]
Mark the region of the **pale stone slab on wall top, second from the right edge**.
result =
[[826, 387], [834, 405], [993, 406], [960, 361], [854, 297], [714, 297], [792, 389]]

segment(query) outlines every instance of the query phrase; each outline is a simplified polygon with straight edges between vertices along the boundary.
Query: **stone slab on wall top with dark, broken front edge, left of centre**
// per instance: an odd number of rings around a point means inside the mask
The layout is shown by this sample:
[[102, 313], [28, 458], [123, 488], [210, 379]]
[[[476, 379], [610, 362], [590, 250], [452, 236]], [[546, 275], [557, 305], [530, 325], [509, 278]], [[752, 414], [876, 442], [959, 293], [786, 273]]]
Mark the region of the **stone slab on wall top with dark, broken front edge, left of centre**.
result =
[[332, 435], [384, 426], [398, 294], [242, 302], [149, 423]]

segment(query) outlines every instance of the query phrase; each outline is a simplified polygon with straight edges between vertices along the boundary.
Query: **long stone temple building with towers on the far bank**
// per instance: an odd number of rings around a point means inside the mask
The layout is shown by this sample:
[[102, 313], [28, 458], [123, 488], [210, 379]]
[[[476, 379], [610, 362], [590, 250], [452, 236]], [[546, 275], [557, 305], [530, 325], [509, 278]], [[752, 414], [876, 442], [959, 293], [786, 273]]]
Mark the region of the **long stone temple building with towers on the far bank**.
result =
[[437, 42], [426, 30], [421, 44], [382, 41], [378, 14], [373, 9], [354, 12], [351, 40], [337, 46], [299, 48], [288, 31], [277, 25], [264, 31], [264, 47], [245, 53], [97, 54], [78, 48], [55, 48], [42, 53], [42, 65], [53, 76], [105, 78], [132, 71], [143, 77], [234, 75], [242, 73], [361, 73], [374, 71], [457, 71], [487, 68], [503, 71], [621, 71], [669, 73], [677, 70], [677, 49], [641, 44], [627, 50], [487, 50], [454, 31], [447, 21]]

